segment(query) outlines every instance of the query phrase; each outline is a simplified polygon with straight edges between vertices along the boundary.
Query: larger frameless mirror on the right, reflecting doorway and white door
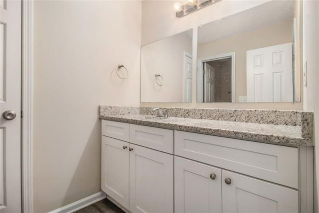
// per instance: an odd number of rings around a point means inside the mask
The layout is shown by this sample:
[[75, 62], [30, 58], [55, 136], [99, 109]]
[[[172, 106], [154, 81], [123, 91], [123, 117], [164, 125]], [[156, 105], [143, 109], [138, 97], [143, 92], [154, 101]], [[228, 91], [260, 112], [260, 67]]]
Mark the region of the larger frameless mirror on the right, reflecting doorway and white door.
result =
[[299, 4], [272, 0], [199, 26], [197, 102], [299, 102]]

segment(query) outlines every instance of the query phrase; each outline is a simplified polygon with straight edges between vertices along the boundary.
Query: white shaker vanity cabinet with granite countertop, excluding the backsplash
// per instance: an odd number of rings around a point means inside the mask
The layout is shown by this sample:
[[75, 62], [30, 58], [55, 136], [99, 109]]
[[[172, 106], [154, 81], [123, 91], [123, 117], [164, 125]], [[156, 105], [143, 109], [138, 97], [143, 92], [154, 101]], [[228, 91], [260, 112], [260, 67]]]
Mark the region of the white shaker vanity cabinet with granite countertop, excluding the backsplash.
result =
[[100, 118], [101, 188], [126, 212], [313, 212], [313, 147], [302, 126], [101, 108]]

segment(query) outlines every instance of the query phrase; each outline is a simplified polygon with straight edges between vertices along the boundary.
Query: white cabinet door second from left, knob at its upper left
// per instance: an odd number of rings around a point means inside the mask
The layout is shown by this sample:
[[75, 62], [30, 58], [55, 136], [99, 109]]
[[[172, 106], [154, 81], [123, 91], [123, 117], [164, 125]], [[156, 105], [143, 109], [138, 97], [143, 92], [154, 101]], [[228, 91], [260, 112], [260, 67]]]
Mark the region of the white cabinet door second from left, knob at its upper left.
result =
[[134, 144], [130, 150], [130, 211], [172, 213], [173, 156]]

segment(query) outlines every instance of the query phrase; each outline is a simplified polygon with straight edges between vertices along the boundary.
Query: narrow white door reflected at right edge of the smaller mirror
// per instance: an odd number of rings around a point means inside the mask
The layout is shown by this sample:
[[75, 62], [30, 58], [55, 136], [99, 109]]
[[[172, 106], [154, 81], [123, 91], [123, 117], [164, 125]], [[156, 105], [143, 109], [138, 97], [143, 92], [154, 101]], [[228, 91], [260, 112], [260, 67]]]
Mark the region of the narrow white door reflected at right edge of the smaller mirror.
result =
[[191, 102], [192, 57], [184, 52], [184, 102]]

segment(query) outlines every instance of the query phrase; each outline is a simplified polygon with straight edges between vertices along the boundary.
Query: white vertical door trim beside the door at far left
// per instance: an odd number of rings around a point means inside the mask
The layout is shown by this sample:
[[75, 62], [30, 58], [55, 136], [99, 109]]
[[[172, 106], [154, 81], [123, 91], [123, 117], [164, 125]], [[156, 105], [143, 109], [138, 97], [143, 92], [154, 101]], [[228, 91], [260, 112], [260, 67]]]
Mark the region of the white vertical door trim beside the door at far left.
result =
[[22, 212], [33, 212], [33, 0], [22, 2], [21, 183]]

